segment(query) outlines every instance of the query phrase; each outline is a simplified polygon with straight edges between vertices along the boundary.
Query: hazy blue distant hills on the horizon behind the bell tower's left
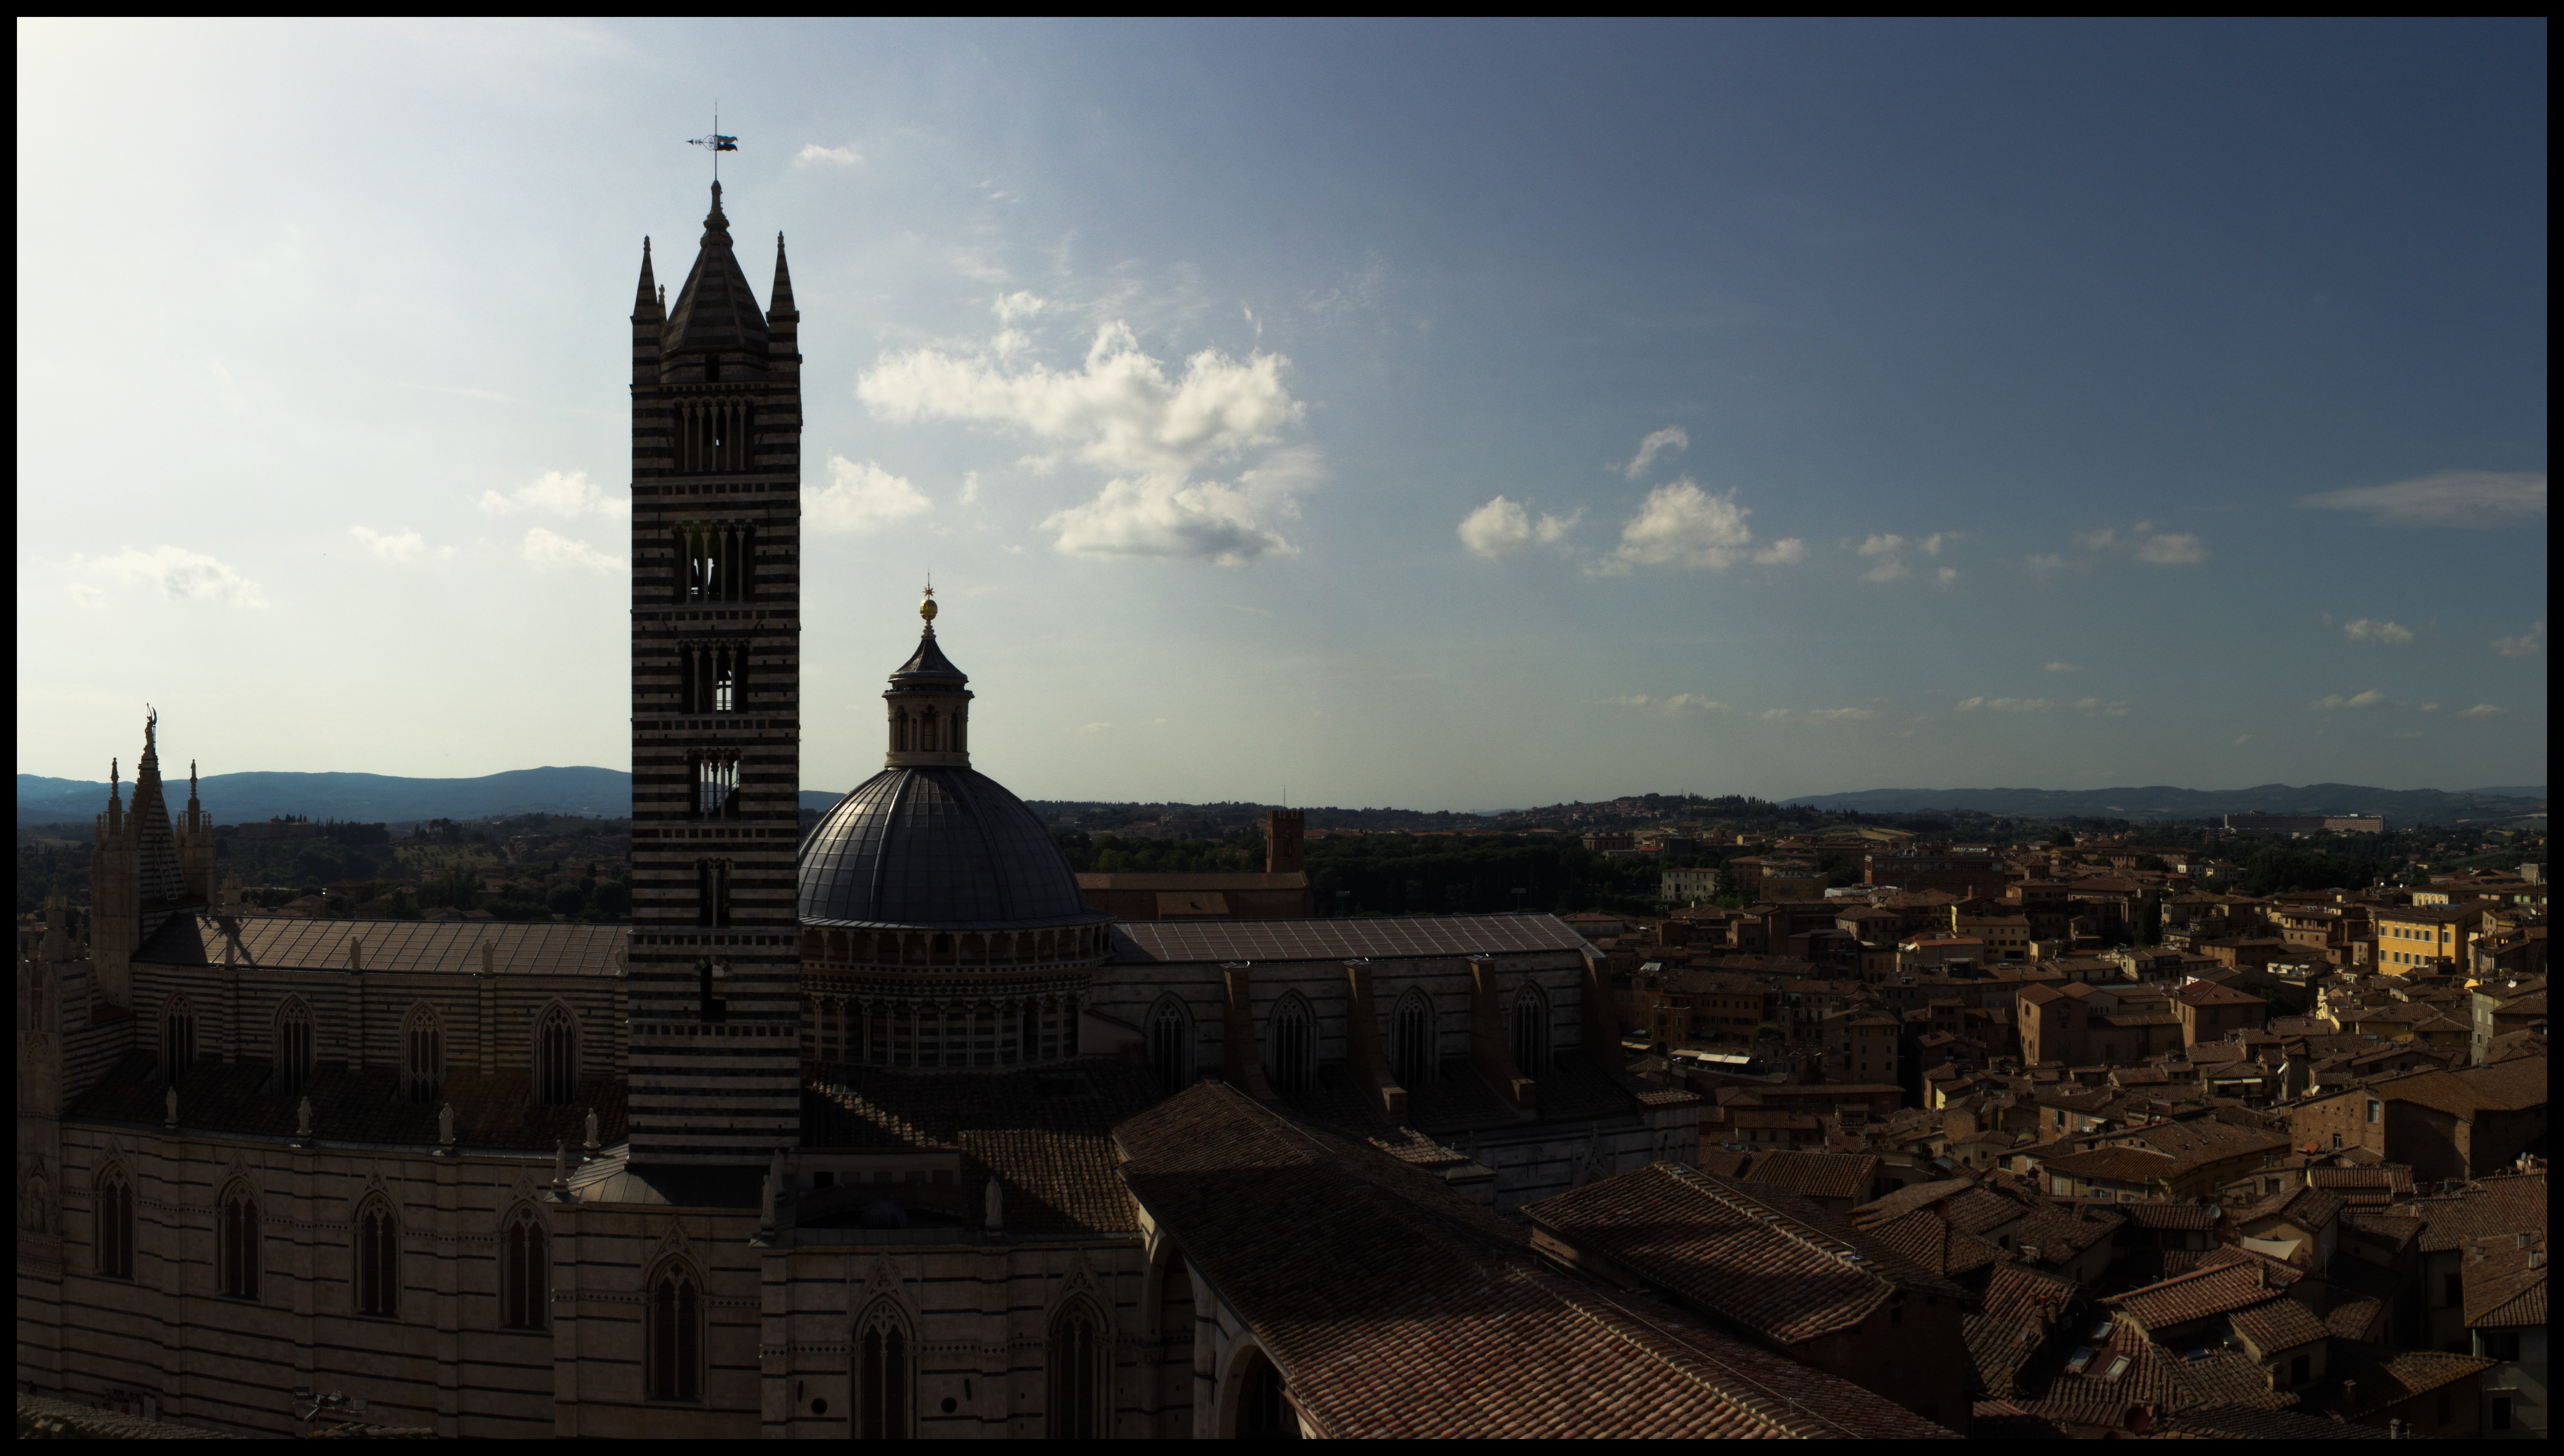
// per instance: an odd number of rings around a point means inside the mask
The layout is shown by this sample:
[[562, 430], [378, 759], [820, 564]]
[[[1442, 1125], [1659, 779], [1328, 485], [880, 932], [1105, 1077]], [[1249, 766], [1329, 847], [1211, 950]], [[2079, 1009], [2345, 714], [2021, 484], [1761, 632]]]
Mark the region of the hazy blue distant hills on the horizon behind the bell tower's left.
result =
[[[187, 782], [167, 782], [172, 815]], [[395, 774], [208, 774], [197, 782], [215, 823], [259, 823], [277, 815], [315, 820], [408, 823], [426, 818], [595, 815], [633, 813], [633, 777], [623, 769], [510, 769], [479, 779], [403, 779]], [[803, 807], [823, 810], [844, 792], [805, 792]], [[133, 802], [133, 779], [126, 779]], [[108, 807], [108, 784], [18, 774], [18, 823], [87, 823]]]

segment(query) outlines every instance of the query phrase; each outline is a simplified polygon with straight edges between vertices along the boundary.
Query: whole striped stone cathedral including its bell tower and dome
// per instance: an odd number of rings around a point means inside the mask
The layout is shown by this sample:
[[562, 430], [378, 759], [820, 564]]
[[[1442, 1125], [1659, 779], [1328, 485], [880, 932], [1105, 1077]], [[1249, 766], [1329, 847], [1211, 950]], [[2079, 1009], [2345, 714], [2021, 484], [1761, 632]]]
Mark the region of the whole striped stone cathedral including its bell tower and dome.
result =
[[631, 925], [259, 915], [144, 728], [90, 913], [18, 956], [21, 1394], [626, 1438], [1859, 1407], [1536, 1248], [1523, 1205], [1697, 1146], [1559, 920], [1090, 907], [972, 769], [931, 595], [882, 772], [803, 838], [797, 320], [718, 185], [672, 305], [644, 241]]

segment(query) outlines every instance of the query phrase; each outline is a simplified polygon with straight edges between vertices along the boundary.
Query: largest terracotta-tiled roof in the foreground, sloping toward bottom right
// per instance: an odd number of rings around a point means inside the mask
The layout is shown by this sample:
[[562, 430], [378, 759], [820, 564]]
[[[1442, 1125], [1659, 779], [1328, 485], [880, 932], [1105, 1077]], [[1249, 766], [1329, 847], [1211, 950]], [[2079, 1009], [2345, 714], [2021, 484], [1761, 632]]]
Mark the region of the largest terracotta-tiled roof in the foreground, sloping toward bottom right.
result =
[[1233, 1087], [1169, 1097], [1115, 1146], [1133, 1197], [1326, 1435], [1949, 1435], [1692, 1315], [1585, 1287], [1433, 1174]]

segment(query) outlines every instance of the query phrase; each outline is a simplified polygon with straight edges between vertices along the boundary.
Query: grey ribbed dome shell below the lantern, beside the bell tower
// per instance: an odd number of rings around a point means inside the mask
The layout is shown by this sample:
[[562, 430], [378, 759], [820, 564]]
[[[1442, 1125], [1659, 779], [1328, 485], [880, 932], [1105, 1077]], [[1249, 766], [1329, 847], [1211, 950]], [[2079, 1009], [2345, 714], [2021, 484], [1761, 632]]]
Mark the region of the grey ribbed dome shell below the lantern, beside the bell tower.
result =
[[882, 769], [800, 851], [800, 918], [864, 925], [1103, 920], [1033, 810], [972, 769]]

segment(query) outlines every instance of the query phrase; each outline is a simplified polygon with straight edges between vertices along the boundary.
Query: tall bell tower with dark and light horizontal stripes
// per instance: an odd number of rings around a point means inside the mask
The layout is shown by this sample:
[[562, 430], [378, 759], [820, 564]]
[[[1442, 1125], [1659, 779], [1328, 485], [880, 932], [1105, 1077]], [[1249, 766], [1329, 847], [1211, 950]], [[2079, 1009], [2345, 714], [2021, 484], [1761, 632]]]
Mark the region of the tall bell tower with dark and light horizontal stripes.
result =
[[633, 302], [633, 1164], [800, 1138], [800, 313], [731, 220]]

